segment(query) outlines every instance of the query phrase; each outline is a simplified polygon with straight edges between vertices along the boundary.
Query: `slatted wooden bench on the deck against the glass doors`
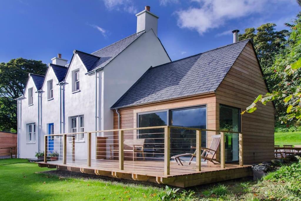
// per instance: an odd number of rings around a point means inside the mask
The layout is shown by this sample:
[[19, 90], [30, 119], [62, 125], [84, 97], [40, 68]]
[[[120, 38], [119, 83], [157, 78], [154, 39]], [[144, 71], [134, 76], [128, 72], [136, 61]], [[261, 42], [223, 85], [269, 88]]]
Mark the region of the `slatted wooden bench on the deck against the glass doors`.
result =
[[[145, 142], [145, 139], [126, 139], [123, 141], [123, 152], [125, 152], [125, 153], [132, 152], [133, 153], [133, 161], [135, 158], [135, 153], [137, 153], [137, 152], [142, 153], [143, 160], [145, 160], [144, 151], [143, 151], [144, 142]], [[114, 152], [119, 152], [119, 149], [115, 148], [114, 145], [110, 145], [111, 158], [112, 158], [112, 153], [113, 153], [113, 157], [114, 157]]]

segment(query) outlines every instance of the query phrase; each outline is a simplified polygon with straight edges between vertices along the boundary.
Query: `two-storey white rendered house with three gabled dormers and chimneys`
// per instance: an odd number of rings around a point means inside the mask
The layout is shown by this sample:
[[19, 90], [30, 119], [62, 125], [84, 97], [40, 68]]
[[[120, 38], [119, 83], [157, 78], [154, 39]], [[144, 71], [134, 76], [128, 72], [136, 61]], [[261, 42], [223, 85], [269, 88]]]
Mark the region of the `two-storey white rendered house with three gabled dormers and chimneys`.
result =
[[[74, 50], [70, 64], [58, 54], [45, 76], [29, 74], [24, 94], [17, 99], [18, 157], [34, 158], [35, 152], [43, 151], [46, 134], [113, 129], [113, 103], [148, 68], [171, 61], [157, 37], [159, 17], [147, 7], [136, 16], [136, 33], [91, 54]], [[51, 146], [61, 139], [49, 140]], [[85, 140], [76, 136], [81, 154]], [[49, 151], [60, 152], [55, 144]]]

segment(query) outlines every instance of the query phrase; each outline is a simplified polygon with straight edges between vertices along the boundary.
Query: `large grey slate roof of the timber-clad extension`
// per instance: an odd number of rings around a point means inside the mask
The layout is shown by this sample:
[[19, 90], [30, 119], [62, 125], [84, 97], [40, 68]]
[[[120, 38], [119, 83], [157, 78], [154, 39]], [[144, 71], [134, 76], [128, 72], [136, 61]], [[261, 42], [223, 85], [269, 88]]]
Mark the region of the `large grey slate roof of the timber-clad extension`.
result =
[[249, 41], [151, 67], [112, 108], [214, 92]]

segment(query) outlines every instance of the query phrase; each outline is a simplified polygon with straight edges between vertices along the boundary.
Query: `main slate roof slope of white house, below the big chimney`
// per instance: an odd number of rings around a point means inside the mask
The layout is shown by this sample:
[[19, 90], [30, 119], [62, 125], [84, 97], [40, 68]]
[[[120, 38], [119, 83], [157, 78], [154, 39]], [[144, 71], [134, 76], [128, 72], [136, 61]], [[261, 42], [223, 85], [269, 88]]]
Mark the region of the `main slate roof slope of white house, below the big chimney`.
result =
[[126, 49], [132, 42], [134, 42], [137, 38], [139, 38], [143, 33], [145, 33], [145, 31], [141, 31], [139, 33], [134, 33], [122, 40], [119, 40], [119, 41], [107, 46], [107, 47], [104, 47], [96, 52], [91, 53], [91, 55], [98, 56], [98, 57], [100, 57], [100, 59], [98, 59], [95, 62], [95, 64], [90, 69], [90, 71], [93, 71], [98, 68], [103, 68], [110, 61], [112, 61], [117, 55], [119, 55], [124, 49]]

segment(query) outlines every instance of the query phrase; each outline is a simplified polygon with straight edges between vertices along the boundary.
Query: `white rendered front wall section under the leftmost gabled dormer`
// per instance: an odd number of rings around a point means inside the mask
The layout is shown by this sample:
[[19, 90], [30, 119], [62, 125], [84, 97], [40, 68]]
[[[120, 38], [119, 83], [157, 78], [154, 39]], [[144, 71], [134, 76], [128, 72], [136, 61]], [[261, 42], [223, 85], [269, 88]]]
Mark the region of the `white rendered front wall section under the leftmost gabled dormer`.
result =
[[[33, 87], [33, 105], [28, 105], [28, 89]], [[20, 158], [33, 159], [38, 151], [38, 93], [32, 77], [29, 77], [24, 92], [24, 99], [21, 99], [21, 122], [20, 122]], [[36, 140], [34, 143], [26, 141], [26, 124], [36, 123]]]

